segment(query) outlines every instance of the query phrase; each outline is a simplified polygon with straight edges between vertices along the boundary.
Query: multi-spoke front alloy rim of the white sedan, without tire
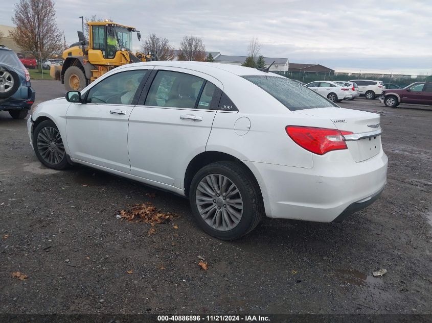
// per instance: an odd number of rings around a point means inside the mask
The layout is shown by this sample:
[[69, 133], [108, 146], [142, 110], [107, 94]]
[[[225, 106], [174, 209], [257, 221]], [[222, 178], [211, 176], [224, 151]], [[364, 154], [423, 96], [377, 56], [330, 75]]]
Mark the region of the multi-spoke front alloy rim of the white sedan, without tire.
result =
[[37, 150], [40, 156], [49, 164], [60, 163], [65, 155], [60, 133], [53, 127], [42, 128], [37, 135]]

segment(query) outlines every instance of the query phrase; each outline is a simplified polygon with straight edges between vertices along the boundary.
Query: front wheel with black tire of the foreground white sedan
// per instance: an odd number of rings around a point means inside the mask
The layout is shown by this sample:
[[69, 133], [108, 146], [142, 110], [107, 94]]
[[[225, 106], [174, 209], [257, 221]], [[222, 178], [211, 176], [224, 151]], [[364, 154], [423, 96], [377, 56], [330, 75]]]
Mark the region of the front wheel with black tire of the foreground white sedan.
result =
[[70, 166], [60, 132], [51, 120], [40, 122], [34, 129], [33, 149], [40, 162], [49, 168], [64, 169]]

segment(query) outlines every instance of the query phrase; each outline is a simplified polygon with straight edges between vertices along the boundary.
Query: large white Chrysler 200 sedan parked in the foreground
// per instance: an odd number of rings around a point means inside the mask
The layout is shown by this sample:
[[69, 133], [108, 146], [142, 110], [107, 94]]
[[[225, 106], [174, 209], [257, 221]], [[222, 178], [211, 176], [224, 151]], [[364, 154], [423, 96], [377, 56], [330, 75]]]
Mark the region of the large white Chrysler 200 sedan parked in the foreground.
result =
[[273, 73], [155, 61], [117, 67], [28, 120], [47, 167], [83, 164], [190, 200], [224, 240], [262, 216], [341, 222], [386, 183], [380, 116]]

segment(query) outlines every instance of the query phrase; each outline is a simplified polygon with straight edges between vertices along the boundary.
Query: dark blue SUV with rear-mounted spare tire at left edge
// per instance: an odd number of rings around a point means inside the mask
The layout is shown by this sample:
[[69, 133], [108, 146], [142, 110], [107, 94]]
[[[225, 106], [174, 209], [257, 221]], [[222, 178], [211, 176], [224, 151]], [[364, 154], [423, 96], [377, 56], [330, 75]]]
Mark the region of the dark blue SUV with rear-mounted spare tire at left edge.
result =
[[8, 111], [14, 119], [24, 119], [35, 94], [27, 68], [11, 49], [0, 45], [0, 111]]

